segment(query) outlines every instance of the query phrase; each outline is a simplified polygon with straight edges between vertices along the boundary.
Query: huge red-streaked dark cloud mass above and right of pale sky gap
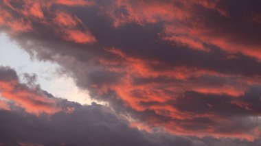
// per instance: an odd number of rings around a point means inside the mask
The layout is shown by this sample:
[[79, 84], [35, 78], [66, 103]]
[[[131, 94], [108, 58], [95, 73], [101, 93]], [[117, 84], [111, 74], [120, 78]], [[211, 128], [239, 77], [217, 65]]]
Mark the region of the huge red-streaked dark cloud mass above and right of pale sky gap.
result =
[[0, 28], [133, 126], [258, 141], [260, 4], [5, 0]]

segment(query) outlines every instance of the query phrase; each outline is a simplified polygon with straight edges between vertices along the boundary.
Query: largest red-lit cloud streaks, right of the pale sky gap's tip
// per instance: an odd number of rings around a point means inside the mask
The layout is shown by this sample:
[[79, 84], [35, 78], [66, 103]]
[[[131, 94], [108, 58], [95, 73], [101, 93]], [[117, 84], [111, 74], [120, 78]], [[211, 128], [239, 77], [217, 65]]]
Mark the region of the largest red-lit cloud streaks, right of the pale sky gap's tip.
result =
[[[253, 134], [253, 131], [256, 129], [253, 129], [250, 132], [238, 132], [238, 134], [232, 134], [230, 132], [216, 132], [216, 129], [212, 129], [214, 125], [212, 125], [211, 123], [207, 125], [208, 122], [197, 123], [196, 121], [194, 121], [194, 119], [207, 118], [214, 120], [215, 124], [233, 124], [222, 115], [218, 115], [217, 113], [215, 113], [216, 111], [212, 112], [211, 109], [214, 109], [217, 106], [229, 107], [231, 105], [234, 105], [234, 108], [236, 109], [253, 111], [251, 109], [251, 104], [237, 99], [245, 95], [245, 93], [248, 91], [249, 84], [254, 84], [253, 82], [241, 80], [240, 77], [237, 78], [233, 75], [225, 75], [201, 69], [188, 69], [185, 66], [175, 67], [176, 69], [174, 68], [170, 71], [155, 71], [153, 69], [150, 69], [149, 64], [161, 64], [160, 62], [133, 58], [131, 56], [128, 56], [126, 53], [123, 53], [119, 49], [113, 48], [107, 49], [107, 51], [115, 54], [115, 56], [117, 56], [115, 57], [117, 58], [117, 60], [99, 60], [99, 62], [106, 65], [106, 70], [116, 73], [122, 72], [125, 73], [125, 76], [122, 77], [122, 79], [118, 83], [109, 85], [102, 84], [100, 86], [93, 84], [93, 88], [97, 88], [101, 95], [108, 92], [108, 90], [115, 90], [115, 92], [117, 93], [117, 97], [122, 99], [126, 106], [139, 112], [151, 110], [154, 111], [159, 117], [172, 119], [168, 122], [165, 122], [161, 121], [161, 119], [158, 119], [158, 117], [150, 117], [149, 119], [143, 121], [144, 123], [139, 123], [135, 121], [134, 123], [132, 123], [133, 126], [137, 126], [146, 131], [150, 129], [149, 127], [159, 126], [174, 134], [194, 136], [194, 131], [190, 130], [190, 128], [188, 127], [200, 127], [204, 125], [205, 127], [203, 127], [202, 130], [197, 130], [197, 136], [207, 136], [208, 134], [211, 134], [212, 136], [216, 137], [228, 136], [230, 138], [242, 138], [249, 141], [253, 141], [255, 138], [258, 138], [258, 134]], [[116, 66], [120, 67], [117, 68]], [[122, 69], [122, 66], [124, 66], [125, 68]], [[212, 80], [211, 78], [206, 79], [205, 81], [190, 81], [193, 77], [197, 78], [204, 75], [209, 75], [209, 77], [214, 78], [221, 77], [220, 79], [224, 77], [223, 80], [228, 80], [231, 77], [236, 77], [237, 83], [231, 84], [227, 82], [222, 85], [215, 85], [217, 83], [213, 82], [213, 84], [206, 84], [206, 82], [208, 82], [207, 80]], [[176, 83], [168, 81], [142, 83], [141, 81], [139, 81], [139, 79], [141, 80], [142, 78], [157, 79], [157, 77], [168, 77], [168, 80], [179, 81], [177, 81]], [[141, 84], [135, 84], [135, 78], [138, 78], [138, 82], [141, 82]], [[179, 105], [179, 100], [182, 101], [184, 93], [188, 91], [193, 91], [202, 95], [215, 95], [221, 97], [228, 96], [231, 99], [222, 103], [224, 105], [219, 103], [218, 105], [213, 105], [212, 102], [206, 103], [205, 107], [206, 109], [209, 108], [209, 110], [205, 113], [197, 113], [192, 111], [187, 112], [179, 109], [179, 107], [176, 107], [175, 105], [173, 105], [173, 103]], [[191, 101], [184, 102], [187, 103]], [[184, 108], [186, 108], [185, 103], [183, 105]], [[173, 125], [175, 126], [173, 127]]]

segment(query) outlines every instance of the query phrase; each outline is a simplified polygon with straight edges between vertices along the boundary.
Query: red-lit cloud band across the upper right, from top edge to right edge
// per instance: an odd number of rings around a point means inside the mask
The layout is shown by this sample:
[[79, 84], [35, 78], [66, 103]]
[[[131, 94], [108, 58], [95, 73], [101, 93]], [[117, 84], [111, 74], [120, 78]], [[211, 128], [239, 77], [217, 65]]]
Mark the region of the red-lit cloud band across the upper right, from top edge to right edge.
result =
[[[179, 5], [177, 4], [179, 3]], [[220, 1], [117, 1], [115, 6], [109, 10], [109, 16], [113, 19], [115, 26], [124, 25], [126, 23], [138, 23], [144, 25], [146, 23], [159, 23], [165, 21], [165, 31], [163, 40], [171, 40], [180, 45], [187, 45], [191, 49], [201, 51], [209, 51], [207, 45], [216, 45], [229, 53], [243, 53], [247, 56], [255, 57], [260, 60], [261, 52], [260, 43], [255, 40], [250, 40], [241, 34], [240, 29], [231, 28], [224, 29], [218, 26], [210, 27], [205, 24], [204, 17], [196, 15], [197, 9], [195, 5], [201, 5], [206, 10], [214, 10], [220, 14], [223, 19], [228, 19], [229, 12], [219, 5]], [[125, 8], [127, 14], [118, 13], [117, 8]], [[196, 13], [196, 14], [195, 14]], [[203, 14], [202, 14], [203, 15]], [[258, 22], [259, 15], [255, 14], [253, 20]], [[211, 18], [209, 18], [211, 19]], [[249, 19], [249, 18], [247, 18]], [[242, 20], [247, 22], [247, 19]], [[239, 20], [241, 21], [241, 20]], [[232, 23], [227, 21], [227, 23]], [[229, 27], [229, 26], [227, 26]], [[233, 30], [234, 29], [234, 30]], [[243, 29], [243, 28], [242, 28]], [[232, 32], [233, 31], [233, 32]], [[240, 41], [238, 41], [238, 38]]]

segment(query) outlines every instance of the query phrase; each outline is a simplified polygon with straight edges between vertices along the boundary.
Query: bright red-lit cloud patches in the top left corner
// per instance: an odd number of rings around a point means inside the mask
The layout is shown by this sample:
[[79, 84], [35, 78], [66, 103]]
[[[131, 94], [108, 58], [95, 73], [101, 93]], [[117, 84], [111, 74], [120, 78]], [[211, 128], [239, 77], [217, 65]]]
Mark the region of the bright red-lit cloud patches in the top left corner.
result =
[[[21, 8], [15, 8], [10, 4], [10, 1], [5, 0], [0, 8], [2, 16], [0, 17], [0, 26], [7, 27], [13, 34], [19, 34], [20, 32], [29, 32], [32, 30], [32, 23], [42, 23], [45, 26], [56, 27], [56, 32], [58, 37], [69, 40], [76, 43], [90, 43], [95, 42], [95, 37], [89, 32], [89, 29], [82, 24], [80, 19], [76, 16], [71, 16], [66, 12], [57, 10], [54, 14], [51, 12], [51, 5], [93, 5], [91, 1], [46, 1], [45, 3], [41, 1], [23, 1]], [[4, 8], [7, 7], [7, 8]], [[8, 10], [9, 9], [9, 10]], [[53, 19], [45, 19], [46, 14], [54, 15]], [[17, 19], [10, 11], [17, 12], [21, 14], [21, 18]], [[37, 19], [35, 19], [37, 18]], [[39, 20], [38, 20], [39, 19]], [[81, 29], [80, 29], [81, 27]]]

